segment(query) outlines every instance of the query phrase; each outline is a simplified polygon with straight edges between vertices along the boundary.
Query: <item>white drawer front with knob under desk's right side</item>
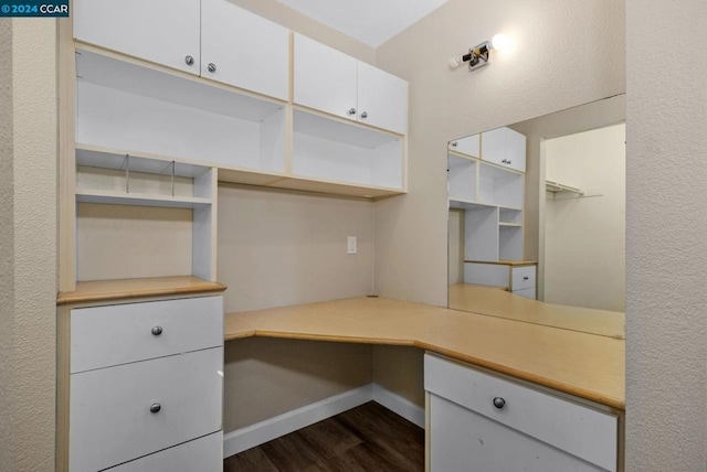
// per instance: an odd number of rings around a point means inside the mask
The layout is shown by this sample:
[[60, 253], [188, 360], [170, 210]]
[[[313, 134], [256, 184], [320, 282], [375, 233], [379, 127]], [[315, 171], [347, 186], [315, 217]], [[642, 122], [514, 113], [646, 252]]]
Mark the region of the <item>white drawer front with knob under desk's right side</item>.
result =
[[[426, 390], [558, 449], [616, 470], [618, 419], [430, 354], [424, 358]], [[503, 398], [503, 408], [494, 406]]]

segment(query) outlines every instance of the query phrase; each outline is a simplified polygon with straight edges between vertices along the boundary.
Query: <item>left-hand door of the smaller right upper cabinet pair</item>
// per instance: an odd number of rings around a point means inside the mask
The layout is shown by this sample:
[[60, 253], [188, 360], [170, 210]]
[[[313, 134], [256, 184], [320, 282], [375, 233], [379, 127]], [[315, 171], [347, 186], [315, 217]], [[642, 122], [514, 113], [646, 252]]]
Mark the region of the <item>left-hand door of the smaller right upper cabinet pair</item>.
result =
[[357, 60], [295, 34], [294, 62], [296, 104], [356, 119]]

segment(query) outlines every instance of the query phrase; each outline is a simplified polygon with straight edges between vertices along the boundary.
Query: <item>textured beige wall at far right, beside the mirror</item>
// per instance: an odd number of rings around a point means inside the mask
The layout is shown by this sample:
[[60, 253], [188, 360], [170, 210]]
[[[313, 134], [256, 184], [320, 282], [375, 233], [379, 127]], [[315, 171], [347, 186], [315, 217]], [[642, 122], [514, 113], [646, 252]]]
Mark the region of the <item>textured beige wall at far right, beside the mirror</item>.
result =
[[626, 46], [627, 470], [705, 471], [704, 0], [627, 0]]

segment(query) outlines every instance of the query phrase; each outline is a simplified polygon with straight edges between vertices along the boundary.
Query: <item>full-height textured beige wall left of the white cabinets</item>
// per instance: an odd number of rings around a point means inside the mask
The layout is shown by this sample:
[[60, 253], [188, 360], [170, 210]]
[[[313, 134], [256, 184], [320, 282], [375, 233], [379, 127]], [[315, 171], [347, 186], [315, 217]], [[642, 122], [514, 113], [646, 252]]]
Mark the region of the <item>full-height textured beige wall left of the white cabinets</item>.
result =
[[[0, 24], [1, 157], [2, 171], [10, 171], [0, 173], [0, 254], [3, 272], [11, 266], [12, 277], [9, 292], [2, 286], [0, 314], [2, 354], [11, 351], [0, 360], [0, 469], [51, 471], [56, 408], [56, 22], [0, 19]], [[10, 195], [4, 194], [8, 190]]]

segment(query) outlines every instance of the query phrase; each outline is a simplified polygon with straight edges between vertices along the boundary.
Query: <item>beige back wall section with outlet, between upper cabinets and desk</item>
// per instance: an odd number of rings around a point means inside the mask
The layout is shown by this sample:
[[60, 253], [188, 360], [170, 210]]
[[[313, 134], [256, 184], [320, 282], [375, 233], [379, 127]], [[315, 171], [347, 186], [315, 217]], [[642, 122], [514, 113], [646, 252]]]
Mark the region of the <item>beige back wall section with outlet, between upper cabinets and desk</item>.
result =
[[[229, 287], [226, 313], [369, 294], [372, 205], [220, 184], [217, 278]], [[357, 236], [358, 254], [347, 254], [347, 236]]]

